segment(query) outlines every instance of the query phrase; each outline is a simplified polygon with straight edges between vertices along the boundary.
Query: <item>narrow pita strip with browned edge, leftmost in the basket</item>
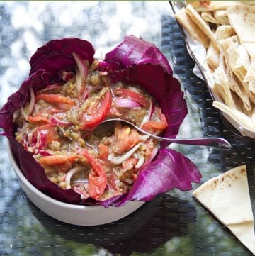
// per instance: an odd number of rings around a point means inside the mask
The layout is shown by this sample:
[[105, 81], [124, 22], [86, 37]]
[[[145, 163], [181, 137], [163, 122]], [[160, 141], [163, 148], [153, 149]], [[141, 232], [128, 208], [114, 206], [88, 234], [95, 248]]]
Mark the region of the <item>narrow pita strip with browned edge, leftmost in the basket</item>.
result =
[[189, 35], [191, 35], [191, 38], [194, 40], [200, 42], [205, 48], [208, 48], [208, 43], [209, 39], [203, 33], [200, 28], [194, 23], [191, 18], [187, 15], [185, 8], [180, 9], [176, 14], [175, 14], [176, 20], [185, 28]]

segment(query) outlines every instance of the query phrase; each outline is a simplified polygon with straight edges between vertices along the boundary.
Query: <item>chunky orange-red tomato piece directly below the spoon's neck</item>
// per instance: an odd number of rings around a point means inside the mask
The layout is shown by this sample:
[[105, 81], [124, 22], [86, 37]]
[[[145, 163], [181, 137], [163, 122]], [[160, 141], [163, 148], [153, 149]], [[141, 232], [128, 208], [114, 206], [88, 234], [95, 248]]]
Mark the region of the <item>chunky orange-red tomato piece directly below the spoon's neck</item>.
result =
[[115, 138], [114, 151], [118, 154], [130, 150], [141, 140], [137, 130], [129, 126], [121, 126], [120, 123], [115, 126]]

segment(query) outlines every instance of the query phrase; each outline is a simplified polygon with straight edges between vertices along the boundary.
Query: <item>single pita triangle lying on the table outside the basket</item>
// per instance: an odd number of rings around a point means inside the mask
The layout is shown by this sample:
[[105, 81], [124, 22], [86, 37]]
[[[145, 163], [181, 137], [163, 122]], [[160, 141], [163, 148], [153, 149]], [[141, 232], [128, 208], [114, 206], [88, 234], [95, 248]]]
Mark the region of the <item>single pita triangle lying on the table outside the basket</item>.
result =
[[254, 216], [245, 165], [209, 179], [193, 195], [255, 254]]

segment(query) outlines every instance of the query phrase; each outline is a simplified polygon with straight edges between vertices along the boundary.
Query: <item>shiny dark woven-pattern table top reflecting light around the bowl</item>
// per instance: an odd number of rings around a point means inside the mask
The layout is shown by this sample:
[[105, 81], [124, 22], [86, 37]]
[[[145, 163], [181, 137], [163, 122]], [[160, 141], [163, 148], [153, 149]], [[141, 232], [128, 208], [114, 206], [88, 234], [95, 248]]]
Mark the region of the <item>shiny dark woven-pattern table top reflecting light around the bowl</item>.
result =
[[[48, 40], [79, 37], [104, 56], [125, 35], [157, 45], [179, 77], [188, 116], [179, 138], [220, 136], [230, 152], [171, 145], [189, 157], [201, 183], [247, 165], [255, 212], [254, 141], [231, 133], [212, 108], [206, 85], [192, 73], [180, 29], [168, 1], [0, 1], [0, 106], [28, 77], [28, 60]], [[199, 184], [193, 184], [196, 189]], [[120, 221], [81, 227], [56, 221], [34, 206], [18, 184], [0, 137], [0, 255], [251, 255], [232, 233], [193, 198], [174, 189]]]

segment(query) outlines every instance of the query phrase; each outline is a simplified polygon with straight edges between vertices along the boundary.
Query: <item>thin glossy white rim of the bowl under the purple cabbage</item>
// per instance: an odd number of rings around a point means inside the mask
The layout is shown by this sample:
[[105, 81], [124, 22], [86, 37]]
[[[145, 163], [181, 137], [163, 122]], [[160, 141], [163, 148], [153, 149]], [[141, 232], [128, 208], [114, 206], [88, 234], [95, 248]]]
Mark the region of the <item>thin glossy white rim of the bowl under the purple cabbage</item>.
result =
[[[78, 204], [69, 204], [69, 203], [65, 203], [62, 201], [59, 201], [57, 199], [53, 199], [50, 196], [47, 196], [47, 194], [42, 193], [42, 191], [40, 191], [38, 188], [36, 188], [35, 186], [33, 186], [33, 184], [31, 184], [28, 179], [25, 177], [25, 175], [23, 174], [23, 172], [21, 172], [21, 169], [18, 167], [18, 164], [13, 156], [13, 152], [11, 150], [11, 145], [9, 140], [7, 139], [7, 152], [8, 152], [8, 157], [11, 160], [11, 164], [13, 166], [14, 171], [16, 172], [18, 179], [21, 179], [21, 181], [26, 185], [26, 187], [28, 187], [28, 189], [33, 190], [35, 192], [35, 194], [37, 194], [38, 196], [42, 197], [45, 201], [49, 201], [52, 204], [57, 204], [58, 206], [62, 206], [64, 208], [72, 208], [72, 209], [86, 209], [88, 211], [95, 211], [95, 210], [101, 210], [101, 209], [107, 209], [104, 206], [84, 206], [84, 205], [78, 205]], [[109, 207], [113, 207], [113, 206], [109, 206]], [[108, 207], [108, 208], [109, 208]]]

